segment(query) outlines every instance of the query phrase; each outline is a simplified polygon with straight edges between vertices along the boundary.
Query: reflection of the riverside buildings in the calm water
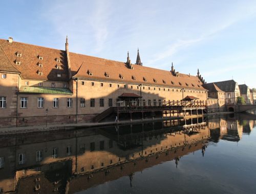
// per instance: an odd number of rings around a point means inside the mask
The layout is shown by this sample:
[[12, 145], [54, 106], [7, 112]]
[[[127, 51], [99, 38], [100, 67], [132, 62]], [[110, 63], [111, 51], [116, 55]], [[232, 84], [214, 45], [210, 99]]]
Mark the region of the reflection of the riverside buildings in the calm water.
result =
[[205, 118], [0, 136], [2, 192], [74, 193], [179, 160], [207, 140], [238, 141], [252, 122]]

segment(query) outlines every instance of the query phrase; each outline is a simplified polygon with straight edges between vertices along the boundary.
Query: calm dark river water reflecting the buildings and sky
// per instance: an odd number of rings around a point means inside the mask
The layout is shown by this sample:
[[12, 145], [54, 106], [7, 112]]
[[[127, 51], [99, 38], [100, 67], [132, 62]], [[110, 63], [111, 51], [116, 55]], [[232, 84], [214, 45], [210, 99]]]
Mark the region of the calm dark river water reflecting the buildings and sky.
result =
[[[186, 123], [186, 125], [185, 125]], [[256, 193], [248, 115], [0, 136], [17, 193]]]

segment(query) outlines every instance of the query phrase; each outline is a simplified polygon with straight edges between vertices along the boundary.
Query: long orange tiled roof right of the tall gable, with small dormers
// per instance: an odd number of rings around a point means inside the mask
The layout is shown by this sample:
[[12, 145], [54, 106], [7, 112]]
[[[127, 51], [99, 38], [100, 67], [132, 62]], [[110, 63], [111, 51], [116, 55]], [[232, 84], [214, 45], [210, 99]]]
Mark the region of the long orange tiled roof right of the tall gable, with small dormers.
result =
[[[205, 90], [201, 86], [202, 82], [196, 76], [179, 74], [179, 77], [176, 77], [170, 71], [146, 67], [142, 65], [133, 65], [133, 69], [131, 69], [124, 62], [102, 59], [76, 53], [69, 53], [69, 56], [71, 61], [72, 76], [75, 78], [145, 84], [145, 81], [143, 80], [144, 77], [147, 79], [146, 84]], [[92, 76], [89, 76], [87, 74], [88, 69], [93, 71]], [[104, 76], [105, 71], [109, 72], [109, 78], [106, 78]], [[120, 79], [120, 74], [123, 76], [123, 79]], [[134, 80], [133, 77], [135, 77], [136, 80]], [[154, 79], [158, 80], [158, 82], [155, 83]], [[164, 84], [162, 81], [160, 82], [160, 80], [164, 80], [166, 84]], [[173, 81], [173, 83], [175, 84], [172, 84], [171, 81]], [[180, 86], [179, 82], [182, 83], [182, 86]], [[188, 86], [185, 85], [185, 82], [188, 83]], [[195, 87], [193, 87], [192, 84], [195, 85]]]

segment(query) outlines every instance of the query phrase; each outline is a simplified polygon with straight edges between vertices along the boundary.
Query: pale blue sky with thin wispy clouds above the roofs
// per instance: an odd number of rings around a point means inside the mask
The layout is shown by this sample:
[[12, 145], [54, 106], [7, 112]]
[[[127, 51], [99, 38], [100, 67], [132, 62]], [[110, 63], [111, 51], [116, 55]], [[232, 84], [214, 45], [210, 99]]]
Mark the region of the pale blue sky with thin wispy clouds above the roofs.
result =
[[5, 1], [0, 38], [256, 87], [256, 1]]

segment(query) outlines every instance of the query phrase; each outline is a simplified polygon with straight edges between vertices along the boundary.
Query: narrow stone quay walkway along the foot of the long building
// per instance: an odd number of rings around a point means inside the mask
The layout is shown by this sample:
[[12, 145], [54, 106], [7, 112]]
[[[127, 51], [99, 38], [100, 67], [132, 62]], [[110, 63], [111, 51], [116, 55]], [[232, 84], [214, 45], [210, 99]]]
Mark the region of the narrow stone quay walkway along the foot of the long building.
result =
[[[232, 113], [232, 112], [231, 112]], [[102, 123], [80, 123], [80, 124], [60, 124], [60, 125], [48, 125], [46, 126], [32, 126], [32, 127], [12, 127], [12, 128], [1, 128], [0, 135], [14, 134], [14, 133], [30, 133], [30, 132], [38, 132], [38, 131], [57, 131], [57, 130], [74, 130], [81, 128], [93, 128], [93, 127], [105, 127], [105, 126], [114, 126], [114, 125], [127, 125], [127, 124], [136, 124], [136, 123], [147, 123], [147, 122], [157, 122], [161, 120], [173, 120], [173, 119], [183, 119], [183, 118], [196, 118], [202, 116], [211, 116], [211, 115], [222, 115], [222, 114], [230, 114], [230, 112], [215, 112], [208, 113], [204, 115], [193, 115], [193, 116], [171, 116], [171, 117], [163, 117], [163, 118], [147, 118], [147, 119], [133, 119], [129, 120], [121, 120], [118, 123], [110, 121], [110, 122], [102, 122]]]

